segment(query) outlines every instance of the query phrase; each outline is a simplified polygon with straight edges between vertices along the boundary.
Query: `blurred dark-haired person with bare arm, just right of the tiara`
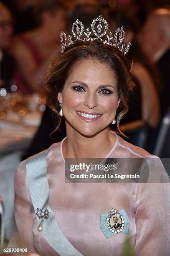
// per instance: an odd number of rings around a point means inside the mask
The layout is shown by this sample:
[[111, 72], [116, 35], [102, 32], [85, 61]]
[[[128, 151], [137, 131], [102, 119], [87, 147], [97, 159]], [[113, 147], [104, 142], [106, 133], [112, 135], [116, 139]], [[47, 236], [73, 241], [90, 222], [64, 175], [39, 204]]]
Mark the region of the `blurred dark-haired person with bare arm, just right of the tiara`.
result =
[[[136, 84], [133, 92], [130, 93], [129, 111], [121, 123], [124, 125], [125, 131], [127, 129], [130, 132], [133, 132], [134, 128], [136, 130], [141, 124], [154, 128], [160, 120], [160, 102], [151, 74], [151, 67], [136, 39], [136, 34], [139, 31], [138, 20], [122, 11], [110, 11], [109, 18], [113, 31], [115, 28], [123, 26], [125, 31], [124, 43], [131, 41], [127, 58], [133, 61], [132, 79]], [[136, 144], [136, 141], [131, 141], [133, 134], [135, 133], [128, 134], [132, 137], [128, 141]]]

